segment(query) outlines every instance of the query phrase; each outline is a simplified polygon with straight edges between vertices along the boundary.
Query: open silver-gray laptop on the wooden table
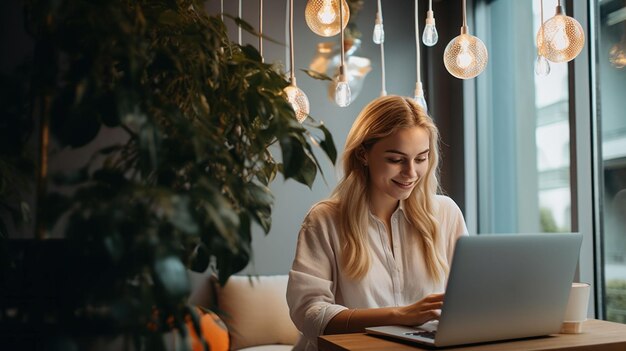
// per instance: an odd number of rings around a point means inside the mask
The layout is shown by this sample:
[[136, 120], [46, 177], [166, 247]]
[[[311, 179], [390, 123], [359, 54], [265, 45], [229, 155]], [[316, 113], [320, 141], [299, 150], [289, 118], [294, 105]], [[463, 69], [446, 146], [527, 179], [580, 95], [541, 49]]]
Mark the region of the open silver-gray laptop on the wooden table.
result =
[[558, 333], [581, 243], [572, 233], [461, 237], [438, 321], [365, 330], [435, 347]]

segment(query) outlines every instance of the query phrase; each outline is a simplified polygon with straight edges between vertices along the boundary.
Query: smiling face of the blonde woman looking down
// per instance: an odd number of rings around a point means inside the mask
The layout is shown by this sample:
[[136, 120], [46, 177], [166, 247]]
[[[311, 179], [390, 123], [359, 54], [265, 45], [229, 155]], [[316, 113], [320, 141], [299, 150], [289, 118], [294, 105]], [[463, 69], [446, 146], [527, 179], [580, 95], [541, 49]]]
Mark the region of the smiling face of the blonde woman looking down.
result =
[[365, 150], [369, 197], [375, 212], [390, 214], [399, 200], [411, 195], [428, 170], [429, 151], [428, 131], [421, 127], [399, 129]]

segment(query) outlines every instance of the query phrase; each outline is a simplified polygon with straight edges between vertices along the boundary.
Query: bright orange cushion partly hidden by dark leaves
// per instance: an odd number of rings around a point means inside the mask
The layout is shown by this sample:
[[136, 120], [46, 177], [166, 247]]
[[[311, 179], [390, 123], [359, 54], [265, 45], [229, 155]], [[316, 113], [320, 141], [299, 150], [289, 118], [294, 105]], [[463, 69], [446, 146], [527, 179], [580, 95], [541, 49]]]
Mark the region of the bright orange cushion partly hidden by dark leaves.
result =
[[[199, 308], [196, 308], [200, 315], [200, 330], [202, 331], [203, 339], [209, 344], [209, 350], [211, 351], [228, 351], [230, 340], [228, 338], [228, 329], [226, 324], [220, 319], [220, 317], [211, 312], [204, 312]], [[187, 329], [191, 336], [191, 349], [193, 351], [203, 351], [202, 342], [198, 338], [191, 320], [187, 320]]]

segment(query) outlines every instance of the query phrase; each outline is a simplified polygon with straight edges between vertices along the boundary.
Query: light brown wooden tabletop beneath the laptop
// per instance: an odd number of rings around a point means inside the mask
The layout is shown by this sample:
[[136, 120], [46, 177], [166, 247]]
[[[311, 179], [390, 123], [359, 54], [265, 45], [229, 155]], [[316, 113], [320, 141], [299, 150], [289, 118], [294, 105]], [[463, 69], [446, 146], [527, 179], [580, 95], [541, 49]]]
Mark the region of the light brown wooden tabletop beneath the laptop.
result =
[[[373, 335], [337, 334], [318, 338], [322, 351], [339, 350], [435, 350], [392, 341]], [[591, 319], [585, 322], [582, 334], [552, 334], [540, 338], [493, 342], [465, 347], [446, 347], [443, 350], [462, 351], [520, 351], [520, 350], [570, 350], [570, 351], [626, 351], [626, 324]]]

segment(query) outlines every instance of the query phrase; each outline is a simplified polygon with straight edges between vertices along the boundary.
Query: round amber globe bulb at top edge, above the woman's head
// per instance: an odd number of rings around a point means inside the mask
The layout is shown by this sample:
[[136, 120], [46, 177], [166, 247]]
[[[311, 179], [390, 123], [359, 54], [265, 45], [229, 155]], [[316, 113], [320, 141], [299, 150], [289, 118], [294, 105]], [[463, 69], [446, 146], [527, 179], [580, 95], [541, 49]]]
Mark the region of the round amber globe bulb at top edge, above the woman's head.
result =
[[[338, 16], [340, 1], [345, 9], [341, 16], [342, 21]], [[309, 0], [304, 9], [304, 19], [313, 33], [323, 37], [332, 37], [339, 34], [348, 24], [350, 10], [346, 0]]]

